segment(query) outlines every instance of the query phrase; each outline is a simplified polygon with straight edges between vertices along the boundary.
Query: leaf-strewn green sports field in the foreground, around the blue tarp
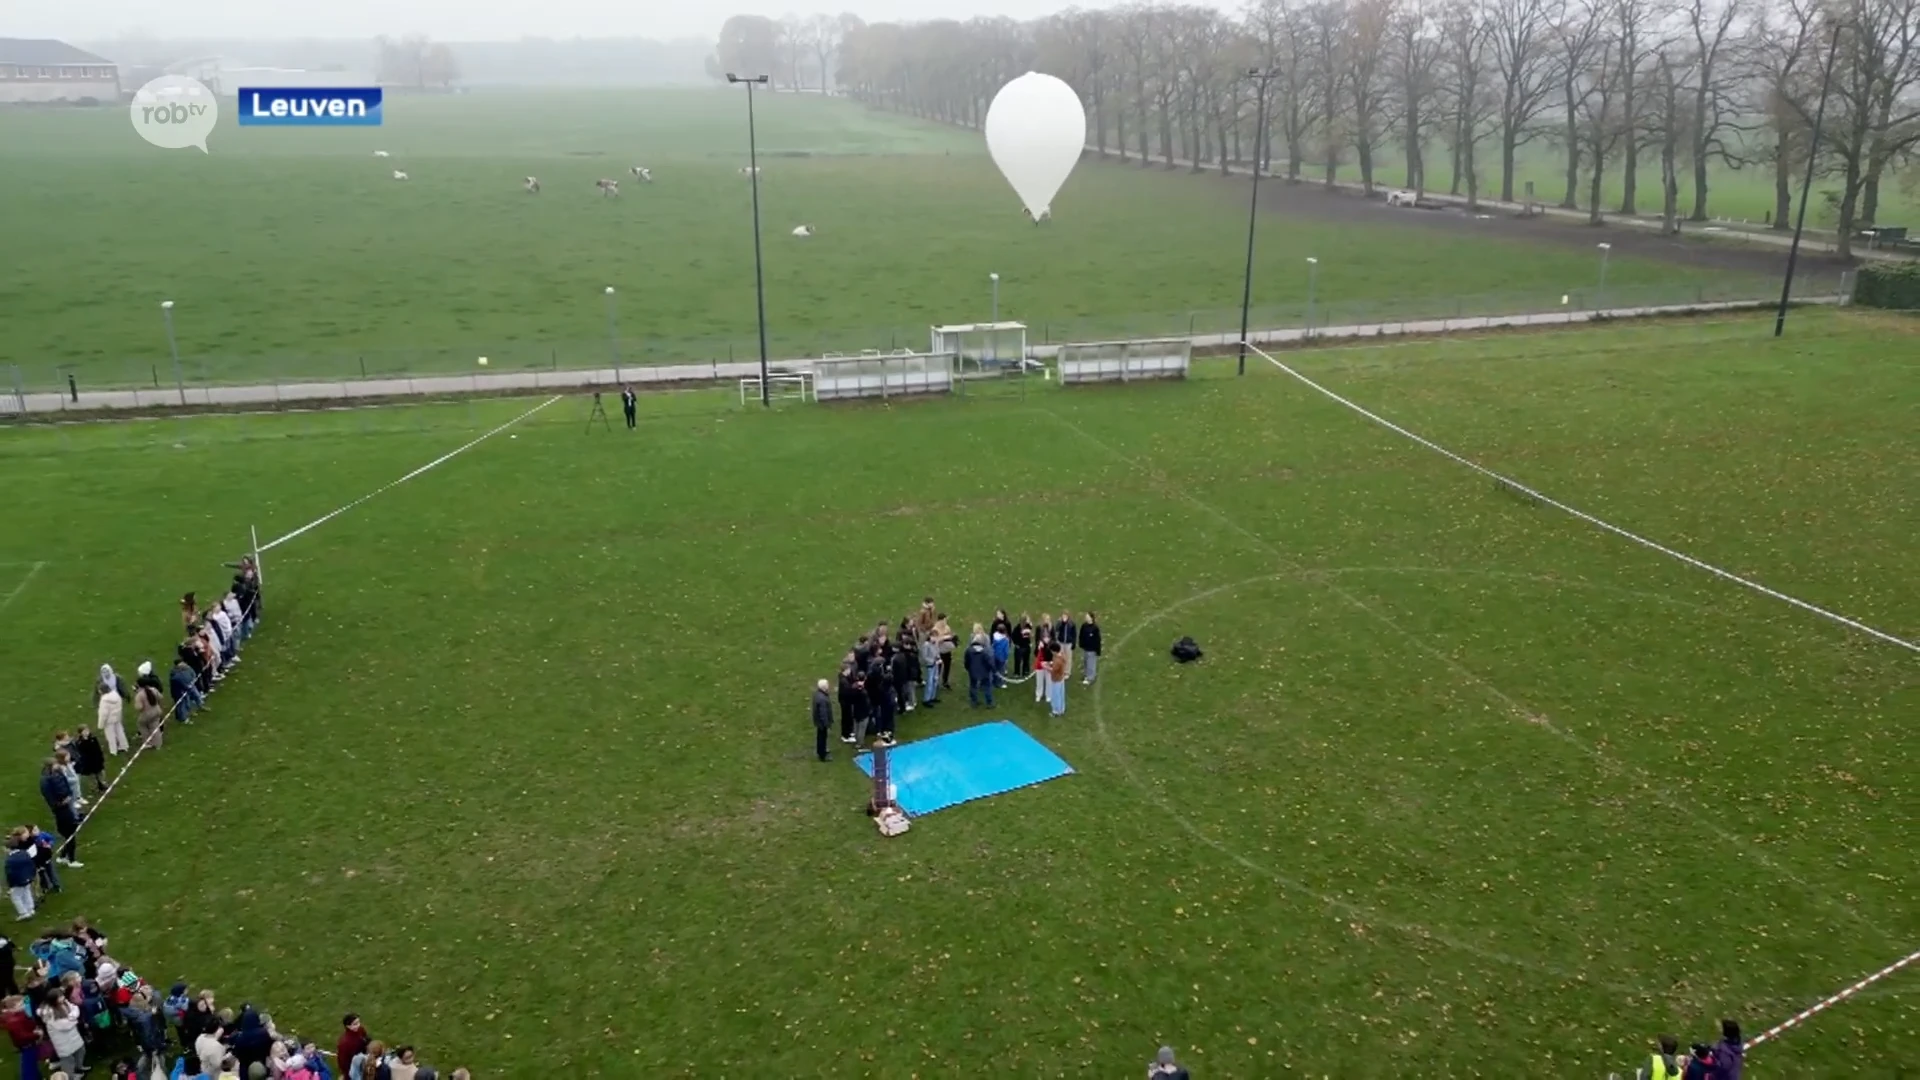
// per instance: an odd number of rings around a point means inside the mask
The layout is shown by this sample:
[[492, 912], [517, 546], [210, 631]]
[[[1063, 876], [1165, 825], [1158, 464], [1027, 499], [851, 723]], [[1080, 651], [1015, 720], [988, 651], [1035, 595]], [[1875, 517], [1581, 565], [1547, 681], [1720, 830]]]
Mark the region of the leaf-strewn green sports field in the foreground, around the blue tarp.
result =
[[[1288, 354], [1626, 528], [1920, 632], [1920, 338], [1797, 317]], [[568, 400], [276, 548], [205, 726], [52, 917], [148, 978], [486, 1076], [1603, 1076], [1912, 949], [1914, 659], [1628, 546], [1269, 367], [899, 407]], [[1048, 392], [1050, 390], [1050, 392]], [[528, 409], [0, 430], [0, 736], [171, 598]], [[38, 569], [35, 569], [38, 567]], [[27, 577], [31, 573], [31, 577]], [[13, 592], [8, 592], [13, 590]], [[925, 592], [1094, 607], [1077, 774], [883, 842], [806, 688]], [[1192, 634], [1198, 667], [1165, 659]], [[837, 748], [837, 744], [835, 744]], [[33, 813], [13, 757], [12, 819]], [[1753, 1076], [1920, 1059], [1908, 976]]]

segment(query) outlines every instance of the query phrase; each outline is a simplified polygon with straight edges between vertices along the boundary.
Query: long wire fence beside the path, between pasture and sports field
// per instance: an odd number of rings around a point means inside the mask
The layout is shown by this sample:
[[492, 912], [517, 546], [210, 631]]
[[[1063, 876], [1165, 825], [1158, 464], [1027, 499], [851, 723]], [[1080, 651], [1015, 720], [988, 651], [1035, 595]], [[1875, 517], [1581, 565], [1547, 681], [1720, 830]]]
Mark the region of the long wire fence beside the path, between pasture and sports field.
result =
[[[1428, 319], [1471, 319], [1551, 311], [1594, 311], [1603, 307], [1649, 307], [1713, 302], [1766, 300], [1778, 284], [1764, 279], [1734, 277], [1686, 284], [1592, 284], [1578, 290], [1559, 286], [1480, 294], [1369, 296], [1302, 294], [1288, 304], [1263, 304], [1248, 311], [1252, 331], [1288, 331], [1334, 325], [1382, 325]], [[1845, 273], [1807, 273], [1795, 282], [1801, 300], [1845, 294]], [[1029, 346], [1098, 342], [1123, 338], [1213, 338], [1240, 331], [1238, 307], [1046, 317], [1027, 321]], [[826, 354], [864, 350], [929, 350], [931, 325], [879, 325], [851, 329], [768, 327], [768, 354], [774, 361], [812, 359]], [[482, 363], [484, 357], [484, 363]], [[161, 338], [142, 356], [94, 359], [15, 359], [0, 363], [0, 411], [17, 411], [29, 394], [77, 398], [102, 390], [146, 390], [163, 404], [192, 402], [192, 390], [209, 386], [292, 386], [307, 382], [372, 382], [405, 379], [445, 379], [476, 375], [538, 375], [609, 369], [624, 373], [643, 367], [699, 367], [722, 379], [728, 363], [758, 361], [758, 334], [747, 313], [741, 331], [730, 336], [653, 336], [609, 334], [574, 340], [467, 342], [415, 348], [367, 348], [355, 352], [263, 352], [205, 354], [180, 342], [175, 361]], [[411, 390], [403, 390], [411, 392]], [[6, 398], [12, 398], [8, 402]], [[275, 398], [265, 396], [267, 404]]]

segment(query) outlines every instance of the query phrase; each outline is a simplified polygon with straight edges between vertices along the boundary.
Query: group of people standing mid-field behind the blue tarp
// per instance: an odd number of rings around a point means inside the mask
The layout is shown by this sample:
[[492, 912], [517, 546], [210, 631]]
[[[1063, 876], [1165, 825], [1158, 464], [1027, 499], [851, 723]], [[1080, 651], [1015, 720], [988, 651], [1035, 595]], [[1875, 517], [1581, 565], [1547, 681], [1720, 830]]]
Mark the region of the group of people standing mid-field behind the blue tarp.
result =
[[920, 609], [900, 617], [899, 626], [881, 621], [860, 634], [841, 657], [837, 688], [826, 678], [814, 686], [814, 755], [833, 759], [828, 732], [835, 700], [843, 744], [864, 744], [872, 732], [879, 746], [893, 746], [900, 713], [931, 709], [941, 703], [941, 694], [952, 692], [956, 653], [968, 680], [968, 707], [991, 709], [995, 690], [1031, 678], [1033, 700], [1044, 701], [1054, 717], [1064, 717], [1075, 651], [1083, 657], [1081, 684], [1092, 684], [1100, 671], [1100, 621], [1092, 611], [1083, 613], [1079, 623], [1071, 611], [1062, 611], [1054, 623], [1046, 615], [1035, 623], [1027, 613], [1014, 621], [1002, 607], [991, 623], [973, 623], [962, 644], [947, 613], [927, 596]]

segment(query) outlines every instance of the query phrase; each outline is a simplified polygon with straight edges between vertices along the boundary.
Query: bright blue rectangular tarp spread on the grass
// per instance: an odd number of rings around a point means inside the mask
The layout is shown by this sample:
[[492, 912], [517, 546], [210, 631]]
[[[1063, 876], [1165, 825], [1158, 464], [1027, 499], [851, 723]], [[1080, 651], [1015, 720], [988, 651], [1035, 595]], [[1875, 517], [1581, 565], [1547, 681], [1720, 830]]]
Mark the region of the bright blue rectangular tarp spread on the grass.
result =
[[[854, 765], [868, 776], [874, 774], [872, 753], [856, 755]], [[910, 817], [1073, 773], [1071, 765], [1014, 721], [902, 742], [887, 753], [887, 767], [895, 798]]]

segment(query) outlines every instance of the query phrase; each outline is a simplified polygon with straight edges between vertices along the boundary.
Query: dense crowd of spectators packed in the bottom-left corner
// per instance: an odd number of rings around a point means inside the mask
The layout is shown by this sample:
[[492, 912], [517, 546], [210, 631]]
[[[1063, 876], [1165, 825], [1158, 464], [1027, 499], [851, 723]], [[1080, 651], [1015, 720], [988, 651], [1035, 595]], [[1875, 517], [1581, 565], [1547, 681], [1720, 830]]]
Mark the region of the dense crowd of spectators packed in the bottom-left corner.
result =
[[[438, 1080], [411, 1045], [390, 1049], [353, 1013], [328, 1063], [252, 1005], [221, 1009], [211, 990], [194, 994], [184, 982], [161, 995], [109, 957], [106, 934], [84, 919], [40, 934], [27, 953], [21, 984], [15, 945], [0, 938], [0, 1026], [19, 1051], [21, 1080], [79, 1080], [106, 1057], [115, 1059], [113, 1080]], [[472, 1076], [455, 1068], [451, 1080]]]

